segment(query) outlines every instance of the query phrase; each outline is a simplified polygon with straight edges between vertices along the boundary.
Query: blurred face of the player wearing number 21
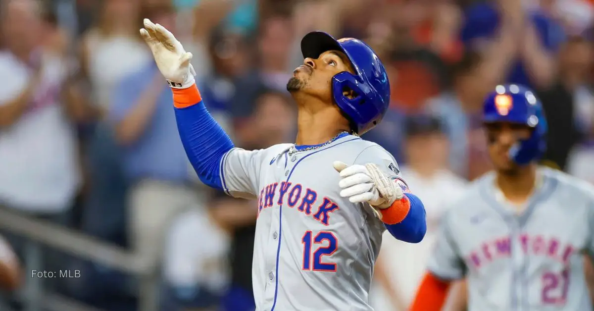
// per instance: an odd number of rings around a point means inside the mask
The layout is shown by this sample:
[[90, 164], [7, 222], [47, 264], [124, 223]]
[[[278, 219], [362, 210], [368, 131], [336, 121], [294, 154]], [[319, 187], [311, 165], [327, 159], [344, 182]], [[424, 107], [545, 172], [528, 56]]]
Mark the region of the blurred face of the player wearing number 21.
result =
[[532, 129], [523, 124], [495, 122], [485, 124], [489, 157], [495, 169], [509, 171], [517, 167], [510, 159], [510, 149], [519, 140], [529, 139]]

